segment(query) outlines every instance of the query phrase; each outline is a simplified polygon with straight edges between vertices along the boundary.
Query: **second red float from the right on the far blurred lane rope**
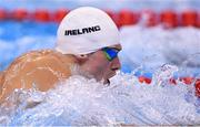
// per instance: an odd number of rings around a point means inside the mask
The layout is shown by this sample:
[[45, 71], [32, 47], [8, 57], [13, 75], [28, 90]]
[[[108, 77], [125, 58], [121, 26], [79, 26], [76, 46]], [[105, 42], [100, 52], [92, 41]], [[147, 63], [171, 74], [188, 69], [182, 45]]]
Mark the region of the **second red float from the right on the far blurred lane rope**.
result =
[[164, 28], [178, 27], [178, 14], [174, 11], [166, 10], [160, 13], [160, 22]]

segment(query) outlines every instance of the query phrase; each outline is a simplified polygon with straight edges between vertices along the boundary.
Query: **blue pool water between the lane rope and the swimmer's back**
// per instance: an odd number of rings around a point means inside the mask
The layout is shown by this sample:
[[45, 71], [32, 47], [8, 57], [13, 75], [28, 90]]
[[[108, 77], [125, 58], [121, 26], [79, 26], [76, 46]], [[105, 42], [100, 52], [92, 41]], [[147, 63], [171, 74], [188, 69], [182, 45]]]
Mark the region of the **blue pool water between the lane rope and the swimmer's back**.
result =
[[32, 50], [52, 49], [56, 42], [57, 23], [0, 22], [0, 71], [16, 57]]

